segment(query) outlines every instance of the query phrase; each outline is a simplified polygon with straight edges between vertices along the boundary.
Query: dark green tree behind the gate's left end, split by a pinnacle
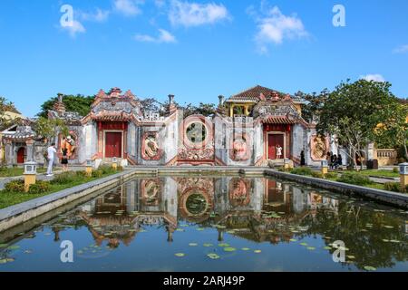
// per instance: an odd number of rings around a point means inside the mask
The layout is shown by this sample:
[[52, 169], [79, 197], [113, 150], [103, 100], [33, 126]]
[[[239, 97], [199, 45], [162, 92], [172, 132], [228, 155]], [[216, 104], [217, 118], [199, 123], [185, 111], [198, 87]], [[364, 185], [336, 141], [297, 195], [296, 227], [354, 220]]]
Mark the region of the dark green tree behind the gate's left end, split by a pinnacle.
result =
[[[86, 116], [91, 111], [91, 105], [94, 99], [95, 96], [84, 96], [81, 94], [64, 95], [63, 104], [65, 105], [66, 111], [75, 111], [81, 116]], [[48, 111], [53, 110], [53, 104], [57, 102], [57, 100], [57, 97], [53, 97], [52, 99], [45, 101], [41, 105], [41, 111], [37, 116], [47, 118]]]

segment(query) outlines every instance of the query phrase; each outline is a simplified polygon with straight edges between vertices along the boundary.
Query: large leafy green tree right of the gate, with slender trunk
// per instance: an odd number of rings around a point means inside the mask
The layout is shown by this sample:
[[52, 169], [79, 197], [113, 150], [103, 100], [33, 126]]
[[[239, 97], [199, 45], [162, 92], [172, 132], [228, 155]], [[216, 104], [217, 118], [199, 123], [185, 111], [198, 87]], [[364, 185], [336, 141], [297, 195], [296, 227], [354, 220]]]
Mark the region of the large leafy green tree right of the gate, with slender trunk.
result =
[[341, 82], [334, 92], [327, 93], [318, 110], [318, 133], [331, 134], [348, 148], [351, 166], [355, 157], [375, 140], [375, 129], [380, 123], [393, 118], [393, 104], [398, 99], [390, 92], [389, 82]]

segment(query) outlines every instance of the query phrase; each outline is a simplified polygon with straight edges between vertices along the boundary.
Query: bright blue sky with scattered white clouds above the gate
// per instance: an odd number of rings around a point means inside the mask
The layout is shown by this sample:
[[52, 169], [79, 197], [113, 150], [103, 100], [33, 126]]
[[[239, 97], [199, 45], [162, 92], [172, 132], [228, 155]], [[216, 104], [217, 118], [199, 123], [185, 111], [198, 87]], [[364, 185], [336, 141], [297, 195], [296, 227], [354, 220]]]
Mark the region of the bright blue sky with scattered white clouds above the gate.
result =
[[114, 86], [217, 103], [256, 84], [319, 92], [368, 77], [408, 96], [406, 0], [2, 0], [0, 35], [0, 95], [30, 117], [57, 92]]

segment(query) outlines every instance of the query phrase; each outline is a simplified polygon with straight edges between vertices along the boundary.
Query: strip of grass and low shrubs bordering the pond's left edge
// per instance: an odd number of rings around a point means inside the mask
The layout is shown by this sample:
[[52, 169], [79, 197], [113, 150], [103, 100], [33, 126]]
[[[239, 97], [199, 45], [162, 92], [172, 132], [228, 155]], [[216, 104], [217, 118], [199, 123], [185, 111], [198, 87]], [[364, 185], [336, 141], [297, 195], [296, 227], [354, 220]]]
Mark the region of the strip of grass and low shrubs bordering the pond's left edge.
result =
[[8, 207], [14, 206], [16, 204], [22, 203], [27, 200], [31, 200], [34, 198], [41, 198], [46, 195], [52, 194], [54, 192], [58, 192], [63, 189], [70, 189], [78, 185], [81, 185], [87, 182], [91, 182], [96, 179], [102, 179], [112, 174], [119, 173], [119, 172], [120, 171], [106, 172], [102, 174], [101, 177], [75, 179], [71, 182], [67, 182], [64, 184], [53, 184], [52, 183], [49, 191], [40, 193], [40, 194], [25, 193], [25, 192], [6, 192], [5, 190], [1, 190], [0, 191], [0, 208], [8, 208]]

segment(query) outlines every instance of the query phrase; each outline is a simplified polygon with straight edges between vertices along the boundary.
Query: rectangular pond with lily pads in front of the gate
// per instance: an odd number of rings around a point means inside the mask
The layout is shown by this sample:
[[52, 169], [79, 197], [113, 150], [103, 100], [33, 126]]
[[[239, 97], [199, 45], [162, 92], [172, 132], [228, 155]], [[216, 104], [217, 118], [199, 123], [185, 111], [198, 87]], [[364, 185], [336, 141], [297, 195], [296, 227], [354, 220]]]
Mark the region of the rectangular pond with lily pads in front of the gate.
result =
[[407, 259], [408, 212], [266, 178], [133, 179], [0, 234], [0, 271], [408, 271]]

